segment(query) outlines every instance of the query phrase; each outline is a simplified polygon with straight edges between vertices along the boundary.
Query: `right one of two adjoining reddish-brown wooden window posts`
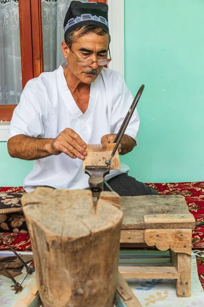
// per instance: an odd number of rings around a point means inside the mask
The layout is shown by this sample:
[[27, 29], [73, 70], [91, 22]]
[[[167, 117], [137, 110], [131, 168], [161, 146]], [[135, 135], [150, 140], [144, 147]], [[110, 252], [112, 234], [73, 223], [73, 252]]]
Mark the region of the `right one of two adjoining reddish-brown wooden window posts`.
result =
[[33, 77], [43, 72], [41, 0], [31, 0]]

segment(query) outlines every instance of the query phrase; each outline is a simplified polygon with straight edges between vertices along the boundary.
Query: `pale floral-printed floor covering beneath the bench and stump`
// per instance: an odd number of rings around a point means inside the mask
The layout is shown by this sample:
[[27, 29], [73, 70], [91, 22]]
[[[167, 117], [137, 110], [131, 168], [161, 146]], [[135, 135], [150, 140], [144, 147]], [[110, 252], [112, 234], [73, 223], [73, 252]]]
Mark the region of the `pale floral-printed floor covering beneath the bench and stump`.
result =
[[[134, 261], [133, 261], [134, 260]], [[177, 305], [178, 307], [201, 307], [204, 306], [204, 291], [200, 285], [195, 255], [192, 253], [192, 266], [191, 266], [191, 297], [179, 298], [176, 296], [176, 280], [174, 279], [127, 279], [129, 286], [133, 290], [134, 294], [138, 298], [142, 307], [172, 307]], [[139, 265], [144, 266], [151, 264], [151, 266], [158, 266], [165, 264], [170, 265], [168, 251], [121, 251], [119, 264], [122, 266]], [[20, 283], [26, 272], [16, 277]], [[29, 281], [35, 276], [35, 272], [32, 275], [28, 275], [25, 279], [23, 286], [28, 284]], [[14, 294], [11, 290], [11, 279], [0, 276], [0, 307], [12, 307], [16, 300], [19, 298], [20, 293]]]

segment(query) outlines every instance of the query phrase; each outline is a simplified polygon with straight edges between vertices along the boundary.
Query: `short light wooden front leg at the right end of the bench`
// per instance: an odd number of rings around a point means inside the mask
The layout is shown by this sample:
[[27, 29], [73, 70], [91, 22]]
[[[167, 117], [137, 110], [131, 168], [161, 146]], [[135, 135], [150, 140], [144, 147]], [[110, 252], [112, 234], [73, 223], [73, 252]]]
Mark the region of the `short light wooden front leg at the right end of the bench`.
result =
[[177, 279], [176, 292], [178, 297], [191, 296], [191, 255], [177, 253], [177, 271], [181, 278]]

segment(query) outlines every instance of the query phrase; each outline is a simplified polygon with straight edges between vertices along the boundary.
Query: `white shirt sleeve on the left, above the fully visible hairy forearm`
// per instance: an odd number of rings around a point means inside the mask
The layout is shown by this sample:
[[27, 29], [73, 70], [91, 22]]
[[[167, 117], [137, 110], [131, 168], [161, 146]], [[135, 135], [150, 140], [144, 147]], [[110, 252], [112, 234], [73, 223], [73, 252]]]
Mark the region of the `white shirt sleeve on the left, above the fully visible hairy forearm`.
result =
[[22, 91], [20, 102], [13, 112], [8, 139], [23, 134], [30, 137], [43, 137], [43, 119], [46, 118], [46, 93], [30, 80]]

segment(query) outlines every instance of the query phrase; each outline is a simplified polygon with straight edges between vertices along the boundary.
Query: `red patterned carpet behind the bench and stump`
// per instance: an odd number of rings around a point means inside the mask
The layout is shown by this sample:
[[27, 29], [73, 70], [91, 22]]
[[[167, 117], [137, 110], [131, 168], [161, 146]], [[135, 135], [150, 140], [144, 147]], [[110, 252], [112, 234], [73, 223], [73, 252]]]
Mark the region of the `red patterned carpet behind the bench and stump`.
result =
[[[148, 185], [161, 195], [183, 195], [185, 197], [189, 211], [194, 215], [196, 221], [196, 227], [192, 233], [192, 248], [196, 249], [194, 252], [197, 259], [198, 275], [204, 289], [204, 182], [149, 183]], [[4, 187], [0, 188], [0, 192], [20, 193], [24, 190], [22, 187]], [[7, 233], [6, 237], [16, 250], [31, 250], [28, 234]], [[7, 248], [0, 241], [0, 250]]]

